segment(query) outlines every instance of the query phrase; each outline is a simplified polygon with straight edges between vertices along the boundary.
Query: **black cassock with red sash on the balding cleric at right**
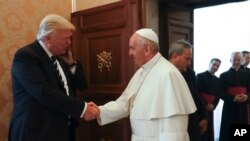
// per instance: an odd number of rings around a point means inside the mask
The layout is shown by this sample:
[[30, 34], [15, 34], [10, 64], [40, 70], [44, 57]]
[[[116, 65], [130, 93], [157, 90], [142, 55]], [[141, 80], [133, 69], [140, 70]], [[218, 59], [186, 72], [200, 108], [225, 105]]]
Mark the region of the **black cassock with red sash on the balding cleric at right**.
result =
[[249, 74], [242, 70], [230, 68], [220, 75], [221, 99], [224, 101], [220, 141], [229, 141], [229, 127], [231, 124], [248, 124], [248, 103], [234, 102], [237, 94], [245, 93], [249, 97]]

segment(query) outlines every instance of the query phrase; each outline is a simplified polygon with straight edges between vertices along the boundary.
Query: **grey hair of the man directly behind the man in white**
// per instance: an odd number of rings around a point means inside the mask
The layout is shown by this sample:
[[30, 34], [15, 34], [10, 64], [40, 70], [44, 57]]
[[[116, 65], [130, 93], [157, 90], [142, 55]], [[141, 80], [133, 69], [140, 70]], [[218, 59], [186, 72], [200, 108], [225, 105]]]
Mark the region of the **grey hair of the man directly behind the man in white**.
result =
[[185, 48], [192, 48], [192, 45], [185, 40], [177, 40], [170, 45], [168, 56], [171, 57], [174, 53], [181, 55]]

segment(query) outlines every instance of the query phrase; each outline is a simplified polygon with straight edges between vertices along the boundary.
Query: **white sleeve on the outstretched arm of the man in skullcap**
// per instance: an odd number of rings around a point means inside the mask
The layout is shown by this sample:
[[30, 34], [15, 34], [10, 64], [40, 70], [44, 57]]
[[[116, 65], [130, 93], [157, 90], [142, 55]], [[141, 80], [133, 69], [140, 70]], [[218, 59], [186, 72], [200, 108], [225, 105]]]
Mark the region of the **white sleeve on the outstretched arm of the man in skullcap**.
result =
[[98, 123], [105, 125], [119, 119], [125, 118], [129, 115], [129, 101], [126, 90], [116, 101], [110, 101], [100, 108], [100, 119]]

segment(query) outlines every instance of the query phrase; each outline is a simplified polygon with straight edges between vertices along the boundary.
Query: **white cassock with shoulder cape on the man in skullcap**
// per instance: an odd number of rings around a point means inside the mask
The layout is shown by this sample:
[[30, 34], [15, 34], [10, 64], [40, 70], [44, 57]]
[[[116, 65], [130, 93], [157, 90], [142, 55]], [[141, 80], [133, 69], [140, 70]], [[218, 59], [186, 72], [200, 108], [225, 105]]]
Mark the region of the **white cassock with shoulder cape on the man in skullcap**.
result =
[[116, 100], [100, 108], [100, 125], [130, 115], [132, 141], [189, 141], [188, 114], [196, 107], [181, 73], [157, 53]]

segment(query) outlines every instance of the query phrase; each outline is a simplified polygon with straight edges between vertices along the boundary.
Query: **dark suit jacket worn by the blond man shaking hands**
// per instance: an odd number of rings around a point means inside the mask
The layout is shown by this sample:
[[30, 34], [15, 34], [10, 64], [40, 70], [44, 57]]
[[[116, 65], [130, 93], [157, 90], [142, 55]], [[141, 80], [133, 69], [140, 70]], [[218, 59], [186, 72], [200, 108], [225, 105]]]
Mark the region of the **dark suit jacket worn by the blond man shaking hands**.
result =
[[73, 98], [75, 88], [86, 87], [82, 67], [76, 73], [59, 60], [67, 77], [67, 96], [52, 61], [35, 41], [19, 49], [13, 60], [14, 110], [9, 141], [68, 141], [69, 117], [80, 118], [84, 101]]

